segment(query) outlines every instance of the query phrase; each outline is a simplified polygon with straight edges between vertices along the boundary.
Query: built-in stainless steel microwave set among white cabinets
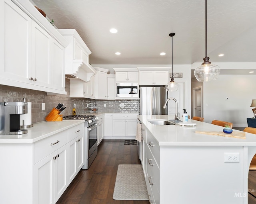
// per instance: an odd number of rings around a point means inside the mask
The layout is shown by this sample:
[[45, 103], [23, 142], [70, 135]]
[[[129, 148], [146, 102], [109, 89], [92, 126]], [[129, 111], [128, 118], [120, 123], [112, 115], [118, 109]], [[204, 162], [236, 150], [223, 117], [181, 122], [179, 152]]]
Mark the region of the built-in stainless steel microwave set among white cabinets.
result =
[[138, 97], [138, 83], [116, 83], [116, 97]]

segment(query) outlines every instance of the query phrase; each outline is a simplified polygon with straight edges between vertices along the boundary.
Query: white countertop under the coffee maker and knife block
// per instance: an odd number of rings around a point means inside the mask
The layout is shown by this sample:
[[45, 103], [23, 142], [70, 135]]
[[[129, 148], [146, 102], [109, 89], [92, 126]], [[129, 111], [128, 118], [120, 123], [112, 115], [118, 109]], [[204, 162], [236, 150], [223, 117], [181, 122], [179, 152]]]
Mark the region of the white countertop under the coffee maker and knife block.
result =
[[81, 123], [84, 123], [84, 120], [40, 122], [34, 124], [32, 128], [26, 128], [28, 130], [26, 134], [0, 135], [0, 143], [33, 143]]

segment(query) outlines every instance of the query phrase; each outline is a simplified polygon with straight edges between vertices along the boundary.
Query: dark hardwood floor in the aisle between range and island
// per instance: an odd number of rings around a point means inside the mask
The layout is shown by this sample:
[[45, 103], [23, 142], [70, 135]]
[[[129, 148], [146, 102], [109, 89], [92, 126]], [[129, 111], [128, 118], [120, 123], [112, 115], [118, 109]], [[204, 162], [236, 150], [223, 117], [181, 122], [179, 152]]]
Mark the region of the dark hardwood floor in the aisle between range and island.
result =
[[149, 204], [148, 200], [114, 200], [119, 164], [140, 164], [137, 145], [124, 139], [103, 139], [88, 170], [81, 170], [56, 204]]

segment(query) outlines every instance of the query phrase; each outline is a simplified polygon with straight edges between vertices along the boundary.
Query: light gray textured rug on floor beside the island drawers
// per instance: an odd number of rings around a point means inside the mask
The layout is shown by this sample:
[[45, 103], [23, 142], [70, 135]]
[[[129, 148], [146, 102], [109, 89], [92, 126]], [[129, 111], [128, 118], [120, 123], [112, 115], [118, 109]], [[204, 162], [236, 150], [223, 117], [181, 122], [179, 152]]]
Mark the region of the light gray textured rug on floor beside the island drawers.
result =
[[148, 191], [141, 165], [118, 165], [114, 200], [148, 200]]

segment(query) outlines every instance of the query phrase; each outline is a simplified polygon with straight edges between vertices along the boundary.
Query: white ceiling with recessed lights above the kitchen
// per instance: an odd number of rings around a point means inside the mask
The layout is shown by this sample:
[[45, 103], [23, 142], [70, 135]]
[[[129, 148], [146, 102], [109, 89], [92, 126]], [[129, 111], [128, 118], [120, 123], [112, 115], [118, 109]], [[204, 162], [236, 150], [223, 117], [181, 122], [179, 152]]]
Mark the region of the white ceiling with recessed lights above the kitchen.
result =
[[[91, 64], [170, 65], [172, 32], [173, 64], [205, 57], [204, 0], [32, 1], [58, 28], [78, 31]], [[256, 62], [256, 0], [208, 0], [207, 6], [210, 61]]]

